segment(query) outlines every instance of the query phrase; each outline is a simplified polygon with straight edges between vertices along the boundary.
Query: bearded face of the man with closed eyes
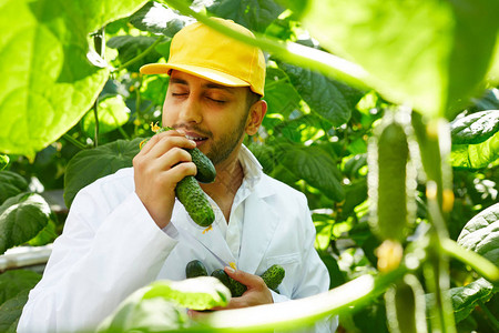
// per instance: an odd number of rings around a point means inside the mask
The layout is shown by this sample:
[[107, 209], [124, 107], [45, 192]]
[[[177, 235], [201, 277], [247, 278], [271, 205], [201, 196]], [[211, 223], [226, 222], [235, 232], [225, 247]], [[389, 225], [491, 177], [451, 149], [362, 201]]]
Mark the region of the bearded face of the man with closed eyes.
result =
[[248, 118], [246, 98], [246, 88], [225, 87], [173, 70], [163, 125], [183, 130], [217, 164], [243, 140]]

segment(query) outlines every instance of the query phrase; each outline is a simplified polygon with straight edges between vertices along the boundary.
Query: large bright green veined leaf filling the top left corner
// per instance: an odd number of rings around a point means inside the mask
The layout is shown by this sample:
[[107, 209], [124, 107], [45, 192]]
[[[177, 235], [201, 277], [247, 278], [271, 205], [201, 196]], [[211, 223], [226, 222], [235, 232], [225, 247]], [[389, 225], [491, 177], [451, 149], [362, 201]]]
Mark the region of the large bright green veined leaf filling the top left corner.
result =
[[144, 2], [2, 1], [0, 151], [33, 158], [83, 117], [109, 74], [89, 61], [88, 33]]

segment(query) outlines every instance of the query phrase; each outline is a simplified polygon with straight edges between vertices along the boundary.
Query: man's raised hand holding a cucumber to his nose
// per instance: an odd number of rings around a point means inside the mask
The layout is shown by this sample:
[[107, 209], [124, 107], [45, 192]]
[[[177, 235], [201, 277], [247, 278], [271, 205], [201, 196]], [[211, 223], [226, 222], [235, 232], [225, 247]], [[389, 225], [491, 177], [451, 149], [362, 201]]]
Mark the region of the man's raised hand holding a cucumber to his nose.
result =
[[176, 183], [197, 172], [184, 150], [195, 147], [182, 132], [171, 130], [152, 137], [133, 159], [135, 193], [161, 229], [172, 218]]

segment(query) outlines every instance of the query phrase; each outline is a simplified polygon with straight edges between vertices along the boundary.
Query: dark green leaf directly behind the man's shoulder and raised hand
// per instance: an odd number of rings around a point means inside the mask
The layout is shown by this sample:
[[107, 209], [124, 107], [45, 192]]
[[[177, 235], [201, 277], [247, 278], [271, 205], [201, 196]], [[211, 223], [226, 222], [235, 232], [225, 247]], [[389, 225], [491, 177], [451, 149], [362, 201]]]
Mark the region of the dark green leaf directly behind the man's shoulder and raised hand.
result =
[[64, 175], [65, 205], [71, 206], [77, 193], [95, 180], [132, 167], [132, 159], [139, 153], [139, 143], [142, 140], [116, 140], [77, 153], [68, 163]]

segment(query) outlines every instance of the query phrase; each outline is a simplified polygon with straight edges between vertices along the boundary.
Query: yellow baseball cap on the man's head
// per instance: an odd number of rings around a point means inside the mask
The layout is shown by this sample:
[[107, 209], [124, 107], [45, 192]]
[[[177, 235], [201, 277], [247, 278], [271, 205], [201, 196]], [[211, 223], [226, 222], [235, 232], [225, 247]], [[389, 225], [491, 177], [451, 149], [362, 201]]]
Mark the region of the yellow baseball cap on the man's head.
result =
[[[211, 18], [254, 38], [246, 28], [231, 20]], [[261, 49], [227, 37], [201, 22], [186, 26], [172, 39], [167, 63], [150, 63], [143, 74], [164, 74], [180, 70], [228, 87], [249, 87], [264, 94], [265, 58]]]

